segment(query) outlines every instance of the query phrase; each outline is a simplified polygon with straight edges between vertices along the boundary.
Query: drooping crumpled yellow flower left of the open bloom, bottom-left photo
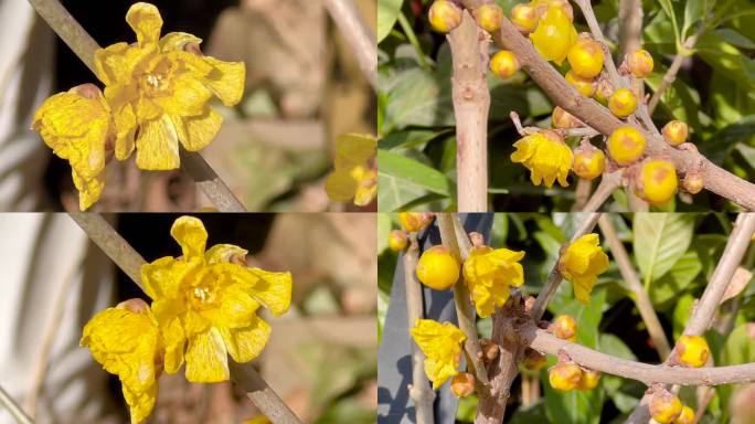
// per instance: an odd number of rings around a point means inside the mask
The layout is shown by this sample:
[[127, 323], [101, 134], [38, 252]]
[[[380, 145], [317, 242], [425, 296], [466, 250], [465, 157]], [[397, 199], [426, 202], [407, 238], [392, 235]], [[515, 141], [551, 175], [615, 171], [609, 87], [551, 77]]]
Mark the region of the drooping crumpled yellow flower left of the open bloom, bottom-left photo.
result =
[[164, 350], [149, 306], [131, 299], [98, 312], [84, 326], [81, 344], [120, 379], [131, 423], [145, 420], [155, 407]]

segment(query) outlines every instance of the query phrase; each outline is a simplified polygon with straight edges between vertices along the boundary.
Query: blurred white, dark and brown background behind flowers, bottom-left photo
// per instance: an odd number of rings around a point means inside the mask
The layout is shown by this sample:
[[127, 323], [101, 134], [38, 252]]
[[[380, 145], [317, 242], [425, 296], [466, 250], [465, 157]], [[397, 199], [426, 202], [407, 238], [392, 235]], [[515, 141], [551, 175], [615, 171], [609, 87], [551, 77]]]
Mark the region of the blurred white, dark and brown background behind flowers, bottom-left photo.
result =
[[[148, 261], [178, 256], [180, 215], [106, 215]], [[305, 423], [373, 423], [376, 407], [375, 218], [360, 213], [200, 214], [208, 246], [240, 245], [249, 266], [290, 271], [289, 311], [252, 363]], [[143, 293], [65, 214], [1, 214], [0, 385], [36, 423], [125, 423], [117, 377], [78, 347], [99, 310]], [[10, 243], [10, 241], [13, 243]], [[162, 374], [148, 423], [235, 424], [258, 412], [230, 382]], [[0, 409], [0, 423], [13, 421]]]

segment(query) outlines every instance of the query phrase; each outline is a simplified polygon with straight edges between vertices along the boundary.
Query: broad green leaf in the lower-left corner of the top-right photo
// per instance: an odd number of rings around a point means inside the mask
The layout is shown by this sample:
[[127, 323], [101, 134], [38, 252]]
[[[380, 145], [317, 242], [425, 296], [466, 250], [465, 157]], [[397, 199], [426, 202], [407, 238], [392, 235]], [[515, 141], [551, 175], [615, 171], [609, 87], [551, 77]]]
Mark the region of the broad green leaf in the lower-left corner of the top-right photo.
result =
[[437, 170], [412, 158], [378, 149], [378, 204], [381, 211], [395, 211], [433, 192], [450, 195], [450, 182]]

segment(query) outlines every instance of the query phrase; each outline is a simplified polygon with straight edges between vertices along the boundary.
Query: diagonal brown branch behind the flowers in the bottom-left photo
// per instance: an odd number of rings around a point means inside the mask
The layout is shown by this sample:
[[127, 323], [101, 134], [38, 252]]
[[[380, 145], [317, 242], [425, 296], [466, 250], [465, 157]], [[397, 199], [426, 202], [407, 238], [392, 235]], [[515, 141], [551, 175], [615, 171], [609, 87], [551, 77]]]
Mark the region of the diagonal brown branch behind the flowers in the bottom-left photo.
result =
[[[68, 212], [86, 235], [142, 290], [141, 267], [146, 264], [128, 242], [99, 214]], [[231, 378], [246, 391], [246, 395], [274, 424], [301, 424], [286, 403], [259, 377], [252, 364], [228, 361]]]

